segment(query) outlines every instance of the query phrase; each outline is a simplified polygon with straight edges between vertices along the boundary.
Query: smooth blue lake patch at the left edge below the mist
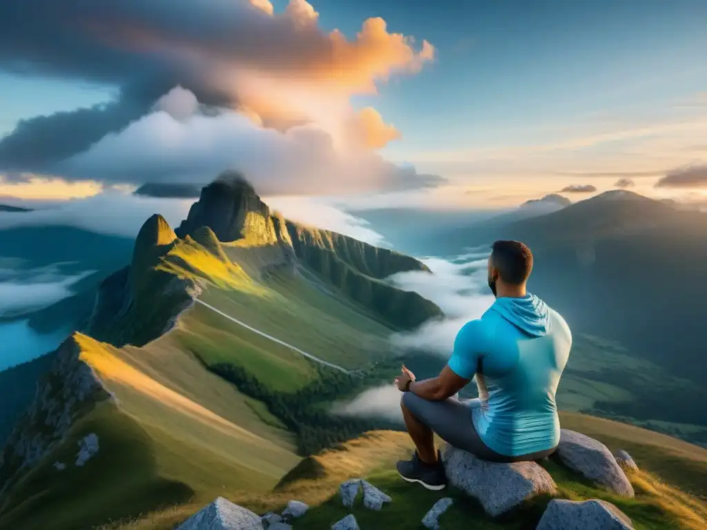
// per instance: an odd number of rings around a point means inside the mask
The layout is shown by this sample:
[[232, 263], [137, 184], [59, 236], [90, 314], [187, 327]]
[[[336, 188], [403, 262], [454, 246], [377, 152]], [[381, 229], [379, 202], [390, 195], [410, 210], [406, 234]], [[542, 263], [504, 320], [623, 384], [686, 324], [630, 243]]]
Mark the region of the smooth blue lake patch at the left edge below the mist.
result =
[[0, 371], [57, 349], [69, 330], [39, 334], [28, 320], [0, 323]]

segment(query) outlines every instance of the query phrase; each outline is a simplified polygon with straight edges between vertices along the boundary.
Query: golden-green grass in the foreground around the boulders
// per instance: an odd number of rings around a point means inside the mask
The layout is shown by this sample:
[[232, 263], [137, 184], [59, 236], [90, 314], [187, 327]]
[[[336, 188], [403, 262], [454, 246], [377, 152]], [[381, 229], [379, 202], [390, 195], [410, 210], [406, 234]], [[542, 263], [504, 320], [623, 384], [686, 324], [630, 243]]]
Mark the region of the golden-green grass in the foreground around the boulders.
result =
[[[563, 427], [582, 428], [609, 446], [619, 443], [633, 452], [641, 469], [651, 469], [665, 452], [680, 454], [683, 464], [681, 476], [674, 484], [689, 485], [705, 476], [707, 451], [679, 440], [627, 425], [583, 416], [563, 414]], [[519, 512], [492, 520], [476, 502], [451, 489], [447, 492], [429, 492], [419, 486], [400, 481], [392, 466], [411, 450], [411, 442], [401, 432], [372, 432], [358, 440], [351, 440], [342, 449], [329, 450], [300, 463], [270, 495], [233, 495], [230, 500], [250, 507], [256, 512], [279, 510], [288, 500], [299, 499], [310, 504], [308, 514], [296, 521], [295, 529], [326, 529], [348, 513], [354, 513], [361, 527], [366, 529], [419, 529], [423, 515], [441, 497], [452, 496], [455, 505], [443, 516], [443, 529], [531, 529], [542, 514], [548, 498], [540, 498], [522, 507]], [[635, 499], [624, 499], [597, 488], [580, 476], [571, 473], [551, 460], [544, 464], [555, 478], [559, 496], [571, 500], [601, 498], [613, 502], [633, 519], [637, 530], [647, 529], [701, 529], [707, 515], [704, 499], [682, 493], [666, 485], [655, 473], [641, 471], [631, 476], [636, 489]], [[668, 471], [666, 467], [663, 471]], [[365, 476], [392, 497], [392, 503], [381, 512], [366, 510], [361, 499], [353, 510], [341, 505], [338, 486], [348, 478]], [[703, 491], [703, 494], [707, 493]], [[170, 529], [174, 524], [199, 510], [200, 506], [185, 505], [150, 514], [121, 529]]]

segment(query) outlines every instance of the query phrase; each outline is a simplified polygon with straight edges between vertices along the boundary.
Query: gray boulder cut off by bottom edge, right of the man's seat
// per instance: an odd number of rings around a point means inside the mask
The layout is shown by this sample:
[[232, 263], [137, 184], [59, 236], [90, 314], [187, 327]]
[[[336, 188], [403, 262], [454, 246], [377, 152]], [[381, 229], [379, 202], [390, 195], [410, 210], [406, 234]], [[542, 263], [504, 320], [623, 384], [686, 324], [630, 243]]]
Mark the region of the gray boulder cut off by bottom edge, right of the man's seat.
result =
[[631, 519], [609, 502], [554, 499], [536, 530], [633, 530], [633, 526]]

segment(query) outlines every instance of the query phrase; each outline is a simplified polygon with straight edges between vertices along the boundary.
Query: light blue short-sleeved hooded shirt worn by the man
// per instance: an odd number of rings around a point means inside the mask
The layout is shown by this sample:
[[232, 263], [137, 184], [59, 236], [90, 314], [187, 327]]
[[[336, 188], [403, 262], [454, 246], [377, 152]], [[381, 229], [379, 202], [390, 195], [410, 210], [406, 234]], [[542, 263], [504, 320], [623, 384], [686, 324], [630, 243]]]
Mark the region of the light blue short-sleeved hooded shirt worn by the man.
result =
[[530, 294], [498, 298], [462, 327], [448, 364], [465, 379], [477, 375], [472, 420], [487, 447], [517, 457], [558, 444], [555, 393], [571, 346], [564, 319]]

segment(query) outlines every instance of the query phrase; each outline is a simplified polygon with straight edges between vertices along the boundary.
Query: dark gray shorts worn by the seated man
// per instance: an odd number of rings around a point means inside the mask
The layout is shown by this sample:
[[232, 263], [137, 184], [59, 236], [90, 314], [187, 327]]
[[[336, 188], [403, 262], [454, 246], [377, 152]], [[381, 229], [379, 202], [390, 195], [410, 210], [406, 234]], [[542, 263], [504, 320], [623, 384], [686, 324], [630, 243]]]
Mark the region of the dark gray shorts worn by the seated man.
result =
[[555, 449], [507, 457], [486, 447], [472, 422], [472, 408], [480, 406], [479, 399], [459, 401], [456, 398], [444, 401], [427, 401], [412, 392], [404, 392], [402, 403], [422, 423], [431, 428], [445, 442], [472, 453], [490, 462], [534, 461], [555, 452]]

